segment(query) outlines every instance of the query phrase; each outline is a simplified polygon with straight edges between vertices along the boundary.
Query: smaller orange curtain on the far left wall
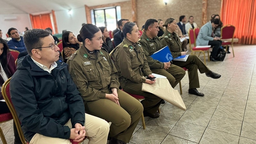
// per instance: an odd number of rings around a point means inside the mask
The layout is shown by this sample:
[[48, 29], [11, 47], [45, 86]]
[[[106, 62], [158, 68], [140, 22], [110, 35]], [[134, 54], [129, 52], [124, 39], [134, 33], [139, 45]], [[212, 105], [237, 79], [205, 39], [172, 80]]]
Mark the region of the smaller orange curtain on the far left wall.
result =
[[47, 14], [39, 14], [39, 15], [30, 15], [32, 28], [51, 28], [52, 22], [50, 18], [50, 13]]

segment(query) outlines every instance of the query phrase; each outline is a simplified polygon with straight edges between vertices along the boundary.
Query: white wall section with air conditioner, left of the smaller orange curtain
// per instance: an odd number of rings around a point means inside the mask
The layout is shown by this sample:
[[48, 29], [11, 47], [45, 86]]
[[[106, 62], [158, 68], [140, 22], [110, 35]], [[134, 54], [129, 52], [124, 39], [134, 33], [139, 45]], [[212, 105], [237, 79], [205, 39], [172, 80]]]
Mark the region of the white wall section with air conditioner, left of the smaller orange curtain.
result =
[[[6, 17], [17, 17], [16, 20], [4, 20]], [[19, 32], [24, 32], [25, 27], [32, 29], [29, 14], [0, 14], [0, 29], [3, 32], [3, 39], [9, 28], [16, 28]]]

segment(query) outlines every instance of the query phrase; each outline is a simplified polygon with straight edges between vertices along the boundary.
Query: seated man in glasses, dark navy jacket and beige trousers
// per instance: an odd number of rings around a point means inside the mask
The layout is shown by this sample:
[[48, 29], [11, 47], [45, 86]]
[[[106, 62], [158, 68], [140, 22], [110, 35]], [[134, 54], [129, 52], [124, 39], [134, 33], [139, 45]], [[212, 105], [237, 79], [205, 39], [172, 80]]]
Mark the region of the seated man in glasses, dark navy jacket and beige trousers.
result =
[[[18, 62], [10, 83], [12, 103], [30, 144], [71, 144], [90, 137], [90, 144], [106, 143], [109, 124], [84, 114], [84, 103], [60, 63], [59, 47], [49, 31], [31, 29], [24, 43], [29, 54]], [[86, 118], [86, 119], [85, 119]]]

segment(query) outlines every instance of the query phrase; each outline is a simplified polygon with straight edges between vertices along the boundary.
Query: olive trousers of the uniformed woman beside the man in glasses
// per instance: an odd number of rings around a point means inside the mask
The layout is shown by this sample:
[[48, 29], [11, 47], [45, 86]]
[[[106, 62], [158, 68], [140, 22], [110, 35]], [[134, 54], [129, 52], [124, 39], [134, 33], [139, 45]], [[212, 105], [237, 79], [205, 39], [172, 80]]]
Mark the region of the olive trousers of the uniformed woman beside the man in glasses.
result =
[[108, 136], [129, 143], [132, 133], [139, 123], [143, 107], [128, 93], [117, 90], [119, 105], [109, 99], [84, 102], [85, 111], [90, 115], [111, 122]]

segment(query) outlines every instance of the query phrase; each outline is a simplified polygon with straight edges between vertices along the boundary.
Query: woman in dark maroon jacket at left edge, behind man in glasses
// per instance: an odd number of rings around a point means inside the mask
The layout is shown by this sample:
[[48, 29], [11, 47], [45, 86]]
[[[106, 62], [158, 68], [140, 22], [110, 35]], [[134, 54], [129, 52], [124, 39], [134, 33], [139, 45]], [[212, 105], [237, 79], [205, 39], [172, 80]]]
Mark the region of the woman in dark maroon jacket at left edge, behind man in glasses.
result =
[[[14, 72], [16, 71], [16, 65], [15, 60], [10, 52], [8, 52], [8, 46], [4, 39], [0, 37], [0, 66], [1, 66], [1, 72], [0, 72], [0, 100], [3, 100], [2, 97], [2, 86], [5, 81], [10, 78]], [[10, 109], [8, 108], [5, 101], [0, 101], [0, 114], [4, 113], [10, 113]], [[13, 132], [14, 132], [14, 144], [22, 144], [20, 141], [20, 136], [17, 131], [17, 127], [13, 121]]]

